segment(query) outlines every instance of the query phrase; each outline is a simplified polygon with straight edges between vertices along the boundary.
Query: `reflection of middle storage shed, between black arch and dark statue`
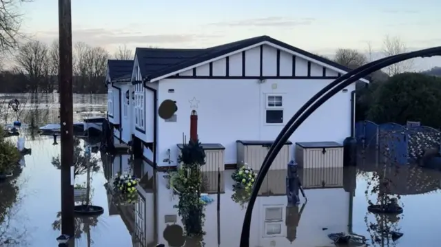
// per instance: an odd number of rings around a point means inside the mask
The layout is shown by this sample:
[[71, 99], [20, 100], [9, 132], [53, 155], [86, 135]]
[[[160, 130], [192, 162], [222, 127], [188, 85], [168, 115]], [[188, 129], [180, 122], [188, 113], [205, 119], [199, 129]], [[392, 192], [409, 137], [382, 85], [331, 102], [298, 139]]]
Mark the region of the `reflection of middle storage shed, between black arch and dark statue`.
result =
[[287, 194], [287, 170], [271, 170], [268, 171], [258, 195], [272, 196], [272, 195], [286, 195]]

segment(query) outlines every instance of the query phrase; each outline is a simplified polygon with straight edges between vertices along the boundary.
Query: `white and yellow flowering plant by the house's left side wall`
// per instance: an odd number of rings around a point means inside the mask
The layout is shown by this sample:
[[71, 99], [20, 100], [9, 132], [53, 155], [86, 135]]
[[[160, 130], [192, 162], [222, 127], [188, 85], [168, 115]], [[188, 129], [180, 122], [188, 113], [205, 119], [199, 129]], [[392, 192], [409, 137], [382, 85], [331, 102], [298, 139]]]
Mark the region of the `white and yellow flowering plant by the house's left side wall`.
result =
[[128, 173], [121, 174], [116, 173], [113, 181], [114, 191], [119, 193], [121, 202], [134, 203], [138, 199], [138, 191], [136, 190], [136, 184], [139, 180]]

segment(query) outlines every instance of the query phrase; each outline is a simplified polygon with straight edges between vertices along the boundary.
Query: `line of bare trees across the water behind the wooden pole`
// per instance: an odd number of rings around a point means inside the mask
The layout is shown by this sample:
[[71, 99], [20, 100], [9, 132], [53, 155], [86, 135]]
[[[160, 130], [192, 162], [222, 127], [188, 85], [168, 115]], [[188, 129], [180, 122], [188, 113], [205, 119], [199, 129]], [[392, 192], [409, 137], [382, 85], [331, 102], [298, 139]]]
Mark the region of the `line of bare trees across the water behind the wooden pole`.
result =
[[[59, 84], [59, 43], [47, 45], [41, 41], [28, 41], [14, 51], [14, 67], [2, 69], [0, 92], [50, 93]], [[105, 94], [107, 59], [132, 59], [127, 47], [111, 56], [103, 47], [83, 42], [75, 43], [72, 50], [73, 91], [77, 94]]]

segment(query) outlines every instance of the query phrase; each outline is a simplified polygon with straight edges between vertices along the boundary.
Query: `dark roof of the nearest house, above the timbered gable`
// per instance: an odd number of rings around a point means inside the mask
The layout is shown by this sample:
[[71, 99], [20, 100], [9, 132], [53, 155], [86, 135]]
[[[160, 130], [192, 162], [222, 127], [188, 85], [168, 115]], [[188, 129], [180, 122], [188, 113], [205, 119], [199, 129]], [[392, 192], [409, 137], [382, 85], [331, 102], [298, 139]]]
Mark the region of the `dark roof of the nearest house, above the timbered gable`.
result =
[[136, 57], [138, 58], [141, 70], [141, 76], [144, 79], [153, 79], [165, 74], [176, 72], [180, 69], [203, 63], [204, 61], [223, 56], [230, 52], [255, 45], [267, 41], [284, 47], [287, 50], [291, 50], [298, 54], [302, 54], [316, 61], [326, 63], [332, 67], [342, 69], [345, 72], [351, 71], [348, 67], [340, 65], [334, 61], [330, 61], [327, 58], [317, 56], [305, 50], [298, 49], [287, 43], [283, 43], [270, 36], [257, 36], [250, 39], [244, 39], [241, 41], [235, 41], [227, 43], [225, 45], [218, 45], [209, 47], [206, 49], [155, 49], [155, 48], [136, 48]]

